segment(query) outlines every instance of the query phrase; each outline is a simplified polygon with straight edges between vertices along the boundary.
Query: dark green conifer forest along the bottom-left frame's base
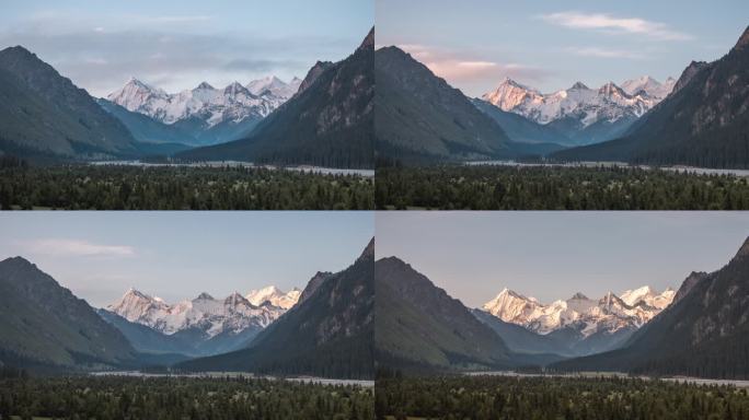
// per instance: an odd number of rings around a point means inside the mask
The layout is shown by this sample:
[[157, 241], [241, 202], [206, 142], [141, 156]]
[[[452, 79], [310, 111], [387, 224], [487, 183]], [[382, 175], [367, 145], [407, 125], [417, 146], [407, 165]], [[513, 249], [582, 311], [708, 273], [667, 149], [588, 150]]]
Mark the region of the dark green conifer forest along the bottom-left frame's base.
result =
[[0, 419], [365, 420], [373, 404], [357, 385], [245, 377], [0, 378]]

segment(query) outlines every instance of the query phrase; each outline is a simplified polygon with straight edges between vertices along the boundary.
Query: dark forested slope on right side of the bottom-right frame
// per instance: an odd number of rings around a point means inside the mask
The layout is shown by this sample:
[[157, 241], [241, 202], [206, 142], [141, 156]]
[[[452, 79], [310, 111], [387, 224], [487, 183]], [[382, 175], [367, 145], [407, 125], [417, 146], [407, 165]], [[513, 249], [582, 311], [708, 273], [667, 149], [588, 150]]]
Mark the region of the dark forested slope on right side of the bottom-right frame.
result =
[[719, 270], [690, 275], [673, 303], [624, 348], [554, 368], [749, 378], [748, 280], [749, 240]]

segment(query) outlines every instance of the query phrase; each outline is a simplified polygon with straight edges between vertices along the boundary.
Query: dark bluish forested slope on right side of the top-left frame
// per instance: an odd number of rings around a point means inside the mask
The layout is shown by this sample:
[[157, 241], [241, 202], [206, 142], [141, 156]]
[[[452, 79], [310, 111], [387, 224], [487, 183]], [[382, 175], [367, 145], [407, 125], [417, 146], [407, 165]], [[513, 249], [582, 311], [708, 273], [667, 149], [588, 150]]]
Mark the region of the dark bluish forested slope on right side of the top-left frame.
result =
[[180, 156], [257, 163], [373, 166], [374, 30], [336, 63], [318, 62], [302, 88], [249, 138]]

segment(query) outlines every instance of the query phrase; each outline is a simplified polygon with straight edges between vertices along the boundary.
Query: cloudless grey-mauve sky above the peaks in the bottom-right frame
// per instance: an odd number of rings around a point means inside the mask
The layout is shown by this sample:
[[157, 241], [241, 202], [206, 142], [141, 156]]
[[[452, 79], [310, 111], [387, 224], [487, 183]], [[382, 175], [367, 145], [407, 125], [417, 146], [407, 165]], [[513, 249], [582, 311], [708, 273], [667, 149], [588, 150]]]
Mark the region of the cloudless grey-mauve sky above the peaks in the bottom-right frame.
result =
[[728, 264], [749, 212], [378, 212], [378, 259], [396, 256], [469, 307], [503, 288], [542, 303], [642, 285], [675, 290]]

